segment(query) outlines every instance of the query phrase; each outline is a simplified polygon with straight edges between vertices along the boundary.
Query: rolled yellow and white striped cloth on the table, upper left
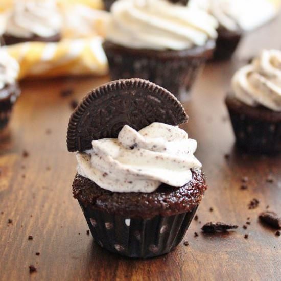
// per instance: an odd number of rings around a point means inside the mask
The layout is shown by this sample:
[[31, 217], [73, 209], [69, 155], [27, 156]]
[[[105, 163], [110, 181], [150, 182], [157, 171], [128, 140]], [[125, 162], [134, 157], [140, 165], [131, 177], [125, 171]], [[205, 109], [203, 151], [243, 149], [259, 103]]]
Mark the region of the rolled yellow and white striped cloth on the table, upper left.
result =
[[18, 79], [69, 75], [105, 75], [107, 59], [99, 36], [58, 43], [25, 42], [4, 46], [19, 65]]

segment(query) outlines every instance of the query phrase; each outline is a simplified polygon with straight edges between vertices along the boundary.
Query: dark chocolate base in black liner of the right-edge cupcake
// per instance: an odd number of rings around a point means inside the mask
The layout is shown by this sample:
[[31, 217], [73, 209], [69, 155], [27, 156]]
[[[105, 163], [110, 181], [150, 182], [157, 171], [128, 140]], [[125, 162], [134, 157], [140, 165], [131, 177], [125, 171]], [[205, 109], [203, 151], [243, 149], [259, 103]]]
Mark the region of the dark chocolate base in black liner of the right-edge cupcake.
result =
[[281, 152], [281, 112], [250, 108], [230, 99], [226, 104], [238, 147], [259, 154]]

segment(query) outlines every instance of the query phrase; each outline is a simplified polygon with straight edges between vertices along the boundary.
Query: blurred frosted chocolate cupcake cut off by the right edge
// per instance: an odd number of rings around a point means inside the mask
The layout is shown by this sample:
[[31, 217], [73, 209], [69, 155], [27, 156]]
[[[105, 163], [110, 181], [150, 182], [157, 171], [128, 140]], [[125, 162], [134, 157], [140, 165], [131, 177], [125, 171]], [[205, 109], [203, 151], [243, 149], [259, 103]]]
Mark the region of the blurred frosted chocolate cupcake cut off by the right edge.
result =
[[232, 78], [226, 97], [236, 143], [254, 153], [281, 151], [281, 51], [264, 50]]

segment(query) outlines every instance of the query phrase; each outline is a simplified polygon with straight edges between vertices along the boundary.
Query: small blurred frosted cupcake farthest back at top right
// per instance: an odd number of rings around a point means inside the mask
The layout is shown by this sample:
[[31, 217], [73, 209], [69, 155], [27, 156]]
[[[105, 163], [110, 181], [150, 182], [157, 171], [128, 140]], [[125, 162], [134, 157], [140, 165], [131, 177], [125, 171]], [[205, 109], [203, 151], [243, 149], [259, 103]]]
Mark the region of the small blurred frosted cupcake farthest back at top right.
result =
[[190, 0], [189, 6], [203, 9], [218, 20], [218, 38], [213, 59], [224, 60], [230, 58], [237, 49], [243, 34], [239, 25], [240, 18], [238, 18], [240, 9], [243, 9], [241, 2]]

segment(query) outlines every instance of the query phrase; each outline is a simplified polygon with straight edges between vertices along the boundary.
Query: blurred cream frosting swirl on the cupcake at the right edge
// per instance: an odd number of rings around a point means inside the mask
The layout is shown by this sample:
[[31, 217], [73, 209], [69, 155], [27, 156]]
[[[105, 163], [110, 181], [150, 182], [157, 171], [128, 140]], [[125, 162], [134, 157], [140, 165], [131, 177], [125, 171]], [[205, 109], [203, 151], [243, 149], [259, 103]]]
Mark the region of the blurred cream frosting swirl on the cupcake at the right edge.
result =
[[281, 51], [264, 50], [232, 78], [237, 99], [249, 106], [281, 111]]

